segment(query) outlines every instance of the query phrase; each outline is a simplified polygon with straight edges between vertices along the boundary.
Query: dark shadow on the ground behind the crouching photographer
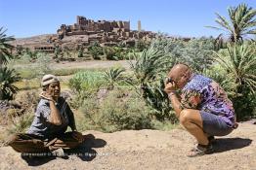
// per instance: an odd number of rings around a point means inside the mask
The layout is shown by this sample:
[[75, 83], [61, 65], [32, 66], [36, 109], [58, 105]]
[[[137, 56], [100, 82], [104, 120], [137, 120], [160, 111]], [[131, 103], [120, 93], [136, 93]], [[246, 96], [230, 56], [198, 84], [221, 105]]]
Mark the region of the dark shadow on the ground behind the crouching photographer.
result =
[[223, 153], [248, 147], [251, 142], [252, 140], [247, 138], [220, 138], [216, 140], [214, 153]]

